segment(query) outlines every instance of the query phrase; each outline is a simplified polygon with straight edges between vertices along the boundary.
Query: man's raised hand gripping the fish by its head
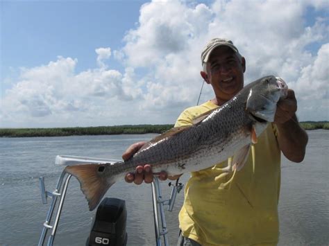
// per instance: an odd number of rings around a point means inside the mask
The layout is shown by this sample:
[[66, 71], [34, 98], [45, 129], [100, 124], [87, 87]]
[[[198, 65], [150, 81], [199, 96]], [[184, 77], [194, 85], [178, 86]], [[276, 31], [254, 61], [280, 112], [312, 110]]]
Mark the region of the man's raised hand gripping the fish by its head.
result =
[[274, 123], [282, 124], [294, 117], [297, 111], [297, 100], [292, 89], [288, 89], [287, 97], [280, 99], [276, 105]]

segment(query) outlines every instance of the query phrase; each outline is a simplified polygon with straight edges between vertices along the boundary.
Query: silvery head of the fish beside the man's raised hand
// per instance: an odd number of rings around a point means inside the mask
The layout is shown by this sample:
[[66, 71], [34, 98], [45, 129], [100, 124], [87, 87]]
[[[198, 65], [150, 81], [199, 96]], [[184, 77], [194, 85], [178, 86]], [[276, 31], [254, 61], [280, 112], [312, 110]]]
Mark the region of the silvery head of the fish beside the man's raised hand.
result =
[[287, 96], [288, 86], [280, 77], [267, 76], [260, 78], [251, 87], [246, 100], [246, 110], [251, 118], [260, 122], [273, 122], [276, 104], [280, 98]]

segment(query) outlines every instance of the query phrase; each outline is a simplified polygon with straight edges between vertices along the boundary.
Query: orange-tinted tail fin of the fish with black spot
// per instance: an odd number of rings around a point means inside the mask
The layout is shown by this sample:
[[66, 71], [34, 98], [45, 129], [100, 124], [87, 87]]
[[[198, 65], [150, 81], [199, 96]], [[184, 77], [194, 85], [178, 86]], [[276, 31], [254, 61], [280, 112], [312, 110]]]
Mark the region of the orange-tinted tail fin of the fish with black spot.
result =
[[115, 177], [106, 177], [105, 169], [106, 164], [87, 164], [65, 168], [67, 173], [78, 179], [90, 211], [97, 207], [108, 188], [115, 184]]

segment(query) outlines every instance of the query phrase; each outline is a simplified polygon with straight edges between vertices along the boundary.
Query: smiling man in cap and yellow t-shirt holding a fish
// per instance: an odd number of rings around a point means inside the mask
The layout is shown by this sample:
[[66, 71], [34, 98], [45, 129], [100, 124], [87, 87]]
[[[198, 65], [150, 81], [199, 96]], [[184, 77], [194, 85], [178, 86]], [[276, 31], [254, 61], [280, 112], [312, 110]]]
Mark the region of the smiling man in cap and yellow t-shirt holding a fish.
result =
[[[215, 97], [180, 114], [176, 126], [192, 125], [194, 118], [221, 107], [244, 87], [246, 60], [233, 42], [212, 39], [201, 53], [201, 76]], [[303, 161], [307, 134], [299, 125], [294, 91], [278, 102], [274, 123], [258, 137], [244, 168], [224, 173], [227, 161], [191, 174], [179, 213], [178, 245], [276, 245], [278, 243], [278, 197], [280, 152], [287, 159]], [[135, 143], [123, 155], [128, 159], [143, 146]], [[159, 174], [167, 179], [167, 174]], [[177, 177], [171, 177], [177, 178]], [[128, 173], [126, 182], [152, 182], [150, 165]]]

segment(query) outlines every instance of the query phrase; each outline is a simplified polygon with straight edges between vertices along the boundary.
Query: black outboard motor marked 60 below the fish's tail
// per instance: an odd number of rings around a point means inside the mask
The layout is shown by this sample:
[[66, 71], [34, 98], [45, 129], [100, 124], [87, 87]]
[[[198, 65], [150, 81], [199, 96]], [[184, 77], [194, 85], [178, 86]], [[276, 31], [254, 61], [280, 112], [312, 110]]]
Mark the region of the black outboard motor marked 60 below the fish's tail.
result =
[[126, 202], [117, 198], [104, 198], [96, 211], [88, 246], [125, 246], [127, 210]]

